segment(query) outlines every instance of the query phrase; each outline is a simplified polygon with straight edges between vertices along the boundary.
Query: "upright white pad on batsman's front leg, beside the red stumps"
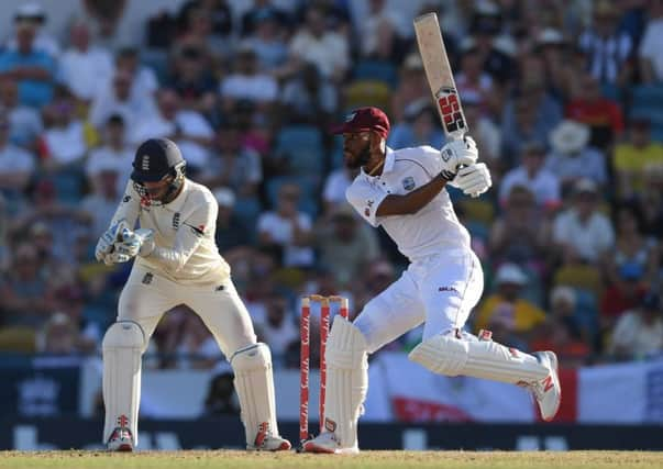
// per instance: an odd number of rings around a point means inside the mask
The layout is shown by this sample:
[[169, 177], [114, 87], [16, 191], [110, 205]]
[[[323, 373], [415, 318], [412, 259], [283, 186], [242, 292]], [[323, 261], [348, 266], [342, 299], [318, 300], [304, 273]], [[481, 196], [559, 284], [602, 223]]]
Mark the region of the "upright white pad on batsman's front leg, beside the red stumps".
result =
[[324, 428], [343, 448], [357, 448], [357, 421], [368, 391], [367, 345], [351, 322], [336, 315], [327, 340]]

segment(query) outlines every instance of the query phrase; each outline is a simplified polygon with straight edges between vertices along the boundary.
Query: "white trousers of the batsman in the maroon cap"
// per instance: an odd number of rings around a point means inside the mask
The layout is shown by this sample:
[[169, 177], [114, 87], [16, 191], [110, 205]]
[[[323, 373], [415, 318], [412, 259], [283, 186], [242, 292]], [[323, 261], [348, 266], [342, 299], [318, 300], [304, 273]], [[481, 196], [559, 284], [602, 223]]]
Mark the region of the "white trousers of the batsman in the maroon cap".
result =
[[484, 290], [484, 272], [469, 249], [417, 260], [354, 321], [374, 353], [426, 322], [423, 338], [462, 328]]

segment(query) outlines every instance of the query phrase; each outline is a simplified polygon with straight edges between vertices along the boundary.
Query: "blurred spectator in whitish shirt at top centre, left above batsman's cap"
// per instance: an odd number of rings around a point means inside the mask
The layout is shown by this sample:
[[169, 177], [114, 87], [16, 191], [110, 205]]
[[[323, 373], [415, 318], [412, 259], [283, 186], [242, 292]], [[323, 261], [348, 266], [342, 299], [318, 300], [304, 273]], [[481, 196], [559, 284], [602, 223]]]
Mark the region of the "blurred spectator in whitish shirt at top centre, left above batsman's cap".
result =
[[320, 75], [341, 83], [350, 69], [347, 40], [328, 26], [324, 8], [311, 4], [305, 14], [305, 23], [290, 41], [290, 57], [301, 64], [314, 64]]

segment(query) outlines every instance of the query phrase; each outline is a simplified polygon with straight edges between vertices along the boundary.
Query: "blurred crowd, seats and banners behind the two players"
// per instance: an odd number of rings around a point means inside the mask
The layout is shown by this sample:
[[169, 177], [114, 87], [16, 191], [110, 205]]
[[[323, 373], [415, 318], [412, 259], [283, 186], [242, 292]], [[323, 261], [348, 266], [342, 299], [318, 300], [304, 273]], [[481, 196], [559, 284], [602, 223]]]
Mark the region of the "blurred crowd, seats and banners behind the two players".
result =
[[[390, 146], [443, 145], [411, 26], [430, 11], [495, 182], [449, 189], [486, 272], [467, 327], [554, 350], [564, 400], [543, 425], [517, 387], [430, 375], [415, 330], [372, 357], [362, 447], [663, 449], [663, 0], [3, 0], [1, 448], [100, 445], [100, 342], [131, 265], [92, 253], [147, 137], [213, 190], [297, 435], [298, 299], [354, 315], [407, 266], [350, 210], [328, 129], [377, 105]], [[239, 447], [240, 425], [211, 335], [167, 312], [141, 447]]]

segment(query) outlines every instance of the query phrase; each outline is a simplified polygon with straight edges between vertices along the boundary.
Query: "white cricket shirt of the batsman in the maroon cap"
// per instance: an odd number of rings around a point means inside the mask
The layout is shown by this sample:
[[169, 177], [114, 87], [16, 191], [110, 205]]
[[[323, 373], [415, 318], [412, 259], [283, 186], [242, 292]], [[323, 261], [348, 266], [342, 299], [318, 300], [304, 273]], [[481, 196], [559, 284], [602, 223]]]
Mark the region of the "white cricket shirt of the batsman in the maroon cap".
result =
[[419, 146], [393, 150], [387, 147], [383, 174], [372, 177], [362, 169], [345, 197], [371, 225], [382, 225], [410, 261], [450, 248], [469, 249], [469, 233], [458, 222], [445, 189], [415, 214], [375, 215], [387, 196], [411, 192], [441, 170], [439, 149]]

